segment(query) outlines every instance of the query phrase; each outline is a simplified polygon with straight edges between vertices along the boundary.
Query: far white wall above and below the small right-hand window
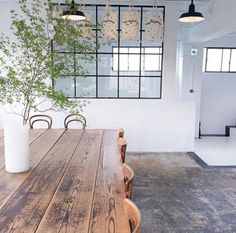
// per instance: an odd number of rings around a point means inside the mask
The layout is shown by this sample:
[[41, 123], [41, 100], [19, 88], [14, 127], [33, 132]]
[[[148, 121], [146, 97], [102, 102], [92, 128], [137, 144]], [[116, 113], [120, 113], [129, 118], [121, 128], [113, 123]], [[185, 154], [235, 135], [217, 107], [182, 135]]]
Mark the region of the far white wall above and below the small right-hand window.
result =
[[[227, 35], [205, 47], [236, 47], [236, 35]], [[201, 122], [203, 134], [224, 134], [226, 125], [236, 125], [236, 74], [202, 73]]]

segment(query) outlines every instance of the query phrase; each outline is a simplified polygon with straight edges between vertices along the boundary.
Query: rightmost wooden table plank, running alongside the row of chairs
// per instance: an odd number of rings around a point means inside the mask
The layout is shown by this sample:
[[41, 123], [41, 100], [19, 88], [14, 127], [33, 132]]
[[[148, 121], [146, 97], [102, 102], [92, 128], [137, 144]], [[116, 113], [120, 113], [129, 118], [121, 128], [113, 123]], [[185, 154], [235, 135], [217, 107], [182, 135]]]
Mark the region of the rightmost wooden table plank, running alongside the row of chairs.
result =
[[116, 145], [117, 132], [105, 130], [90, 220], [91, 233], [130, 233], [125, 213], [125, 186], [121, 159]]

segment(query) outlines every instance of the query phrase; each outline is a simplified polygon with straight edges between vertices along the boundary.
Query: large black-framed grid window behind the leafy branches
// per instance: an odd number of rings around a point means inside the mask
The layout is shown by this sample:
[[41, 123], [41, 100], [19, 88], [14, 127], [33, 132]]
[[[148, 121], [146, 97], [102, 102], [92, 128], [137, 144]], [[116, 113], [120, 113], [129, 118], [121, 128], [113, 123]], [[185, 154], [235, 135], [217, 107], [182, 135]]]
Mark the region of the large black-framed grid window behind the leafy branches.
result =
[[[102, 21], [105, 5], [86, 5], [92, 13], [94, 36], [100, 44], [96, 50], [96, 60], [92, 63], [81, 63], [88, 71], [85, 76], [65, 74], [54, 84], [57, 90], [63, 91], [69, 98], [133, 98], [160, 99], [162, 95], [163, 42], [145, 42], [145, 15], [153, 10], [165, 13], [165, 8], [158, 6], [134, 6], [140, 14], [140, 40], [122, 41], [121, 22], [127, 5], [112, 5], [117, 13], [116, 42], [100, 43], [99, 24]], [[53, 46], [53, 52], [66, 53], [63, 49]], [[74, 51], [75, 58], [81, 54]], [[128, 68], [126, 67], [127, 60]]]

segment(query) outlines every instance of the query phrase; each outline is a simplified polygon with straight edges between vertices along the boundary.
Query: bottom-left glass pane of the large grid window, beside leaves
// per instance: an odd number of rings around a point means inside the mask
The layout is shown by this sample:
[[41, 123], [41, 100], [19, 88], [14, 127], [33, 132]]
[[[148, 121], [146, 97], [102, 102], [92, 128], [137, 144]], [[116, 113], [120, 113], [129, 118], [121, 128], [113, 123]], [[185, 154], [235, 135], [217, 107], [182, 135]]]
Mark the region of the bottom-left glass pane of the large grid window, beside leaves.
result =
[[57, 91], [61, 91], [67, 97], [74, 97], [74, 78], [63, 77], [55, 80], [54, 87]]

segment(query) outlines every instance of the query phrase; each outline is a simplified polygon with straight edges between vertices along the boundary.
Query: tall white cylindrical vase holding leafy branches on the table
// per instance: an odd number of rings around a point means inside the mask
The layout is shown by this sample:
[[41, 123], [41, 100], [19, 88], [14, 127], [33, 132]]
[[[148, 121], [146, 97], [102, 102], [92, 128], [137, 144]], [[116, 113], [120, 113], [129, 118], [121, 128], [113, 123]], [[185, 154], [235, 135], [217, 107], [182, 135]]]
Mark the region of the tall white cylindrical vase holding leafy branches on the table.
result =
[[28, 125], [19, 120], [5, 122], [5, 169], [10, 173], [28, 171], [29, 164], [29, 131]]

